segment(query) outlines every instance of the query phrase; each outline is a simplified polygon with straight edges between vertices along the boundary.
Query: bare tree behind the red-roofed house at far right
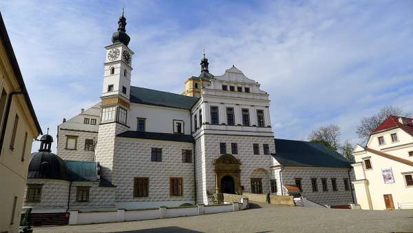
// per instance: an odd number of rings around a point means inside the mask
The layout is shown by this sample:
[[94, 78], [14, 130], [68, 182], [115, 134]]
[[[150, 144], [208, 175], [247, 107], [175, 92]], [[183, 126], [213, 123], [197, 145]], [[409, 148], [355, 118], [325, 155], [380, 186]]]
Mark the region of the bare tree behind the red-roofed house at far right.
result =
[[401, 108], [394, 106], [386, 106], [382, 108], [379, 113], [372, 115], [371, 117], [363, 117], [361, 119], [359, 126], [357, 126], [356, 133], [359, 135], [359, 139], [363, 139], [363, 143], [366, 143], [370, 134], [373, 130], [379, 126], [386, 118], [390, 115], [400, 116], [404, 113]]

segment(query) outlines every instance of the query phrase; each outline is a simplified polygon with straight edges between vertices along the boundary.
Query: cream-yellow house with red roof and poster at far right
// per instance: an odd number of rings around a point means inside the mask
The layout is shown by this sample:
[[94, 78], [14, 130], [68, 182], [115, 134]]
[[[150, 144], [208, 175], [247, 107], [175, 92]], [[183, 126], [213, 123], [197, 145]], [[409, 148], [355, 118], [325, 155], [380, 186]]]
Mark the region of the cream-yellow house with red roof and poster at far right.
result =
[[353, 151], [353, 182], [363, 210], [413, 208], [413, 121], [390, 116]]

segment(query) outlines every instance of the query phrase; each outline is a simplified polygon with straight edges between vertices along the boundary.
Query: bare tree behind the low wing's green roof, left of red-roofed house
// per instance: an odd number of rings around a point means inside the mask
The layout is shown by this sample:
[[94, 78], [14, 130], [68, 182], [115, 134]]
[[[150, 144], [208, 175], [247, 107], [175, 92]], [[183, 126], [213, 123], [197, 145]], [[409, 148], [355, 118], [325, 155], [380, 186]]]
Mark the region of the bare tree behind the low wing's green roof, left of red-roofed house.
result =
[[339, 125], [331, 124], [313, 130], [310, 135], [308, 135], [308, 139], [312, 142], [322, 143], [337, 150], [340, 146], [340, 136], [341, 132]]

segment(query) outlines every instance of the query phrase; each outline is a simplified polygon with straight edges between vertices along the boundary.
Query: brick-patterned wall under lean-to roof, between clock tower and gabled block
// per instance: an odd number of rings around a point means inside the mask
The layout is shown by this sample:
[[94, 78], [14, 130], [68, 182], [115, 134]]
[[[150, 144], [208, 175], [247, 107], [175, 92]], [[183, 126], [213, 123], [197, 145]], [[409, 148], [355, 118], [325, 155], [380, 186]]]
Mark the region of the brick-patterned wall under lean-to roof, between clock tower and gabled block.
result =
[[[162, 148], [162, 162], [151, 161], [151, 148]], [[193, 201], [193, 163], [182, 163], [182, 150], [193, 150], [193, 143], [118, 137], [113, 171], [116, 201]], [[134, 197], [134, 177], [149, 177], [149, 196]], [[169, 177], [183, 178], [183, 196], [169, 196]]]

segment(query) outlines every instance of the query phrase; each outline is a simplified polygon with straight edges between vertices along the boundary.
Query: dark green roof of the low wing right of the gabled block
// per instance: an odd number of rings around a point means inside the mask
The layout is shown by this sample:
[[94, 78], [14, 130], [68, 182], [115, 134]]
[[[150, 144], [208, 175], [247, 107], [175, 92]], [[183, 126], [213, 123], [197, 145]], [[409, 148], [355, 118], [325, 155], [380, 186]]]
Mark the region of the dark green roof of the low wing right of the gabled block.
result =
[[351, 168], [350, 161], [320, 143], [274, 139], [273, 157], [284, 166]]

